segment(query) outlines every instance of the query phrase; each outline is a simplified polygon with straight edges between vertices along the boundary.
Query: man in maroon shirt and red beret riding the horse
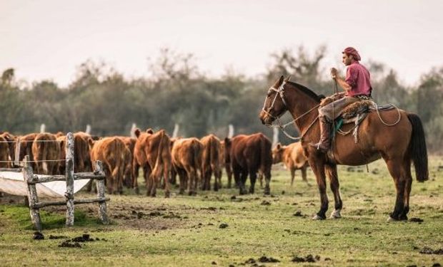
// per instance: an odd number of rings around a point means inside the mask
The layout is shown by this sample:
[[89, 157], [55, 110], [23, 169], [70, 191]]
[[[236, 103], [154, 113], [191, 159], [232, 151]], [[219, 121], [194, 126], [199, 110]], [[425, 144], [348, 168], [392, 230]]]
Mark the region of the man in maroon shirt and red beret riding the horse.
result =
[[347, 66], [346, 78], [342, 79], [337, 74], [337, 69], [331, 69], [332, 79], [336, 81], [344, 92], [339, 93], [339, 100], [335, 100], [324, 107], [319, 108], [319, 121], [320, 121], [320, 140], [317, 144], [309, 144], [316, 147], [321, 152], [327, 152], [329, 150], [331, 135], [331, 124], [347, 105], [357, 102], [362, 98], [371, 97], [371, 82], [370, 75], [367, 68], [359, 63], [361, 60], [359, 53], [355, 48], [345, 48], [343, 53], [344, 66]]

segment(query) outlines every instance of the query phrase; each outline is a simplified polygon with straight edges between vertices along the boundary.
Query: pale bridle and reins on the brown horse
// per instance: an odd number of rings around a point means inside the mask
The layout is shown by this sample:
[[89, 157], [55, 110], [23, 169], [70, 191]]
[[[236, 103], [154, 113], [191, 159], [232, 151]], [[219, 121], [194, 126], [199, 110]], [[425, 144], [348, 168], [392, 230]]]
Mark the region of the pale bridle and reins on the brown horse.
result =
[[[269, 90], [268, 90], [268, 95], [269, 95], [269, 93], [271, 92], [271, 90], [275, 91], [276, 94], [275, 94], [274, 99], [272, 100], [272, 104], [269, 106], [269, 108], [267, 108], [267, 110], [266, 110], [266, 109], [264, 108], [264, 106], [263, 106], [262, 110], [263, 110], [263, 111], [264, 111], [269, 117], [272, 117], [272, 118], [274, 119], [274, 122], [277, 122], [277, 125], [276, 125], [276, 124], [272, 124], [272, 122], [271, 122], [271, 124], [267, 125], [268, 127], [280, 129], [280, 130], [282, 130], [282, 132], [284, 133], [284, 135], [286, 135], [288, 138], [290, 138], [290, 139], [292, 139], [292, 140], [297, 140], [297, 141], [298, 141], [298, 140], [302, 140], [302, 138], [304, 137], [304, 135], [306, 135], [306, 133], [309, 131], [309, 129], [312, 127], [312, 125], [314, 125], [314, 123], [319, 119], [318, 116], [315, 118], [315, 120], [313, 120], [313, 121], [311, 122], [311, 124], [307, 127], [307, 129], [302, 133], [302, 135], [301, 135], [300, 137], [293, 137], [292, 135], [289, 135], [289, 133], [287, 133], [287, 132], [284, 130], [284, 128], [287, 127], [288, 125], [292, 125], [292, 123], [297, 122], [297, 120], [299, 120], [299, 119], [301, 119], [302, 117], [304, 117], [305, 115], [309, 114], [309, 112], [311, 112], [312, 110], [317, 109], [317, 108], [320, 106], [320, 104], [319, 104], [319, 105], [315, 105], [314, 108], [311, 108], [311, 109], [308, 110], [307, 112], [304, 112], [302, 115], [300, 115], [299, 117], [296, 117], [294, 120], [292, 120], [292, 121], [290, 121], [290, 122], [287, 122], [287, 123], [285, 123], [285, 124], [282, 124], [282, 122], [280, 121], [280, 117], [282, 117], [282, 115], [284, 114], [284, 112], [286, 112], [287, 110], [289, 110], [289, 109], [288, 109], [288, 105], [287, 105], [287, 103], [286, 103], [286, 100], [284, 100], [284, 85], [285, 85], [286, 83], [287, 83], [287, 81], [284, 80], [284, 81], [282, 82], [282, 84], [279, 86], [279, 88], [274, 88], [274, 86], [272, 86], [272, 87], [269, 88]], [[282, 112], [282, 114], [280, 114], [280, 115], [278, 115], [278, 116], [275, 116], [275, 115], [272, 115], [270, 111], [272, 110], [272, 108], [274, 108], [274, 104], [275, 104], [275, 100], [277, 100], [277, 96], [280, 96], [280, 99], [282, 99], [282, 103], [283, 103], [284, 108], [285, 108], [286, 110], [285, 110], [284, 112]]]

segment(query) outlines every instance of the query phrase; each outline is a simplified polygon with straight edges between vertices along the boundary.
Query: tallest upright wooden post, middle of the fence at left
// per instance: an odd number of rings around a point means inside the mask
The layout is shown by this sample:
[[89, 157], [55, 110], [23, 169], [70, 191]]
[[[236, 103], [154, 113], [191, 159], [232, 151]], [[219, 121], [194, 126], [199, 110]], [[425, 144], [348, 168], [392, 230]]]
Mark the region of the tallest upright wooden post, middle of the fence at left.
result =
[[66, 226], [74, 225], [74, 136], [66, 135]]

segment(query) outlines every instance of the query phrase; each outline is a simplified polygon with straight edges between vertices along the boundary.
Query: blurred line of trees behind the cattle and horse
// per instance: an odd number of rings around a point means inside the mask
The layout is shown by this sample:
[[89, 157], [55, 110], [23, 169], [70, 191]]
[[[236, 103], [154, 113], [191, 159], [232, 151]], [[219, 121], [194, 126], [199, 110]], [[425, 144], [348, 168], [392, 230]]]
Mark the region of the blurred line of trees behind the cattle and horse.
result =
[[[76, 132], [91, 125], [93, 135], [129, 135], [136, 123], [141, 129], [163, 128], [171, 134], [179, 124], [183, 137], [215, 133], [223, 138], [232, 124], [235, 134], [264, 132], [272, 137], [272, 130], [257, 118], [267, 89], [280, 75], [291, 75], [291, 80], [314, 92], [331, 95], [329, 70], [322, 68], [325, 56], [324, 46], [314, 53], [302, 46], [284, 49], [270, 56], [264, 75], [247, 77], [227, 71], [211, 78], [199, 70], [192, 54], [164, 48], [149, 63], [148, 77], [124, 78], [106, 64], [89, 60], [77, 68], [76, 78], [66, 88], [51, 80], [22, 85], [9, 68], [0, 81], [0, 130], [20, 135], [38, 132], [44, 123], [49, 132]], [[372, 75], [374, 100], [417, 113], [429, 150], [438, 153], [443, 145], [443, 67], [424, 72], [417, 86], [408, 87], [383, 63], [364, 64]], [[290, 119], [289, 115], [283, 118]], [[284, 135], [280, 140], [291, 141]]]

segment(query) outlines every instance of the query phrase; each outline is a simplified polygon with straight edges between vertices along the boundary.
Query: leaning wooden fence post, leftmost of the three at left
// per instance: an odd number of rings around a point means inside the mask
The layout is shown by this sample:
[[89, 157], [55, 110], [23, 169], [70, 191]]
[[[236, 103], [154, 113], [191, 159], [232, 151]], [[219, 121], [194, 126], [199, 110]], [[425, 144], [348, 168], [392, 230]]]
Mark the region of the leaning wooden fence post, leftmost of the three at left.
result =
[[[36, 177], [32, 172], [31, 164], [29, 164], [29, 155], [24, 157], [23, 177], [26, 182], [32, 182]], [[37, 231], [41, 231], [40, 210], [34, 208], [34, 204], [39, 203], [37, 196], [36, 184], [28, 184], [28, 199], [29, 199], [29, 214], [31, 214], [31, 221]]]

